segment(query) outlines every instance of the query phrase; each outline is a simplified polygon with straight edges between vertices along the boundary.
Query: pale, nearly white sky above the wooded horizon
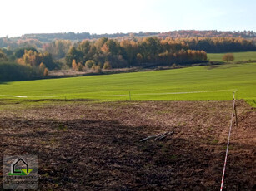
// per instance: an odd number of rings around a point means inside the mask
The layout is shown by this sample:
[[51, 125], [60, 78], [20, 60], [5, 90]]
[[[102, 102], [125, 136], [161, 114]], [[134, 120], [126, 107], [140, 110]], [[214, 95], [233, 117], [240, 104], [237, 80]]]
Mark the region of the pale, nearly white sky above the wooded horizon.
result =
[[4, 0], [0, 37], [52, 32], [256, 31], [255, 0]]

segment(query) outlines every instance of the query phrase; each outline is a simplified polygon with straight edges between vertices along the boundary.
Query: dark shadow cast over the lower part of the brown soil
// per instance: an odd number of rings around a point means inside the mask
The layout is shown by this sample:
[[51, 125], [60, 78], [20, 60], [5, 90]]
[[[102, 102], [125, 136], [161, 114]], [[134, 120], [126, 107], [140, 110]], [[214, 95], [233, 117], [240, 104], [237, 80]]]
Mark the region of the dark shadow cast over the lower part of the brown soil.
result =
[[[156, 128], [122, 125], [117, 120], [5, 118], [0, 120], [0, 156], [38, 155], [42, 190], [219, 189], [225, 149], [216, 149], [223, 144], [202, 146], [197, 137], [187, 140], [178, 135], [139, 142]], [[251, 155], [245, 156], [251, 161]], [[238, 156], [231, 154], [232, 159]], [[225, 188], [252, 189], [253, 180], [243, 181], [248, 164], [236, 160], [233, 166], [228, 165]]]

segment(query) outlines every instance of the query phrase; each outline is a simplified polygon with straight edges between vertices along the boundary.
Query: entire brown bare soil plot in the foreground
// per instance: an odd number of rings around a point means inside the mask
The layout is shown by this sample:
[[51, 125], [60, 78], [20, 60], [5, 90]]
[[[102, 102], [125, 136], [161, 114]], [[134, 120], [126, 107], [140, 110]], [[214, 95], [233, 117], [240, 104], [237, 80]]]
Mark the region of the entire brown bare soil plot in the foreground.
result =
[[[38, 155], [40, 190], [220, 188], [233, 101], [39, 102], [0, 101], [0, 157]], [[237, 103], [224, 190], [255, 190], [256, 111]]]

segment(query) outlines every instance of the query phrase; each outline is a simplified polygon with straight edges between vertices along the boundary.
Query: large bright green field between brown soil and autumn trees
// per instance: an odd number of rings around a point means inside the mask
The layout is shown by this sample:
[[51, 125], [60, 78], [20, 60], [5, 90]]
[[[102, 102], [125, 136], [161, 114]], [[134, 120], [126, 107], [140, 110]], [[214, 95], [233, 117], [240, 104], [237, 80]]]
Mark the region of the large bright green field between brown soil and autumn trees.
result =
[[129, 100], [130, 91], [131, 100], [231, 100], [233, 90], [253, 105], [256, 63], [14, 81], [0, 84], [0, 98]]

